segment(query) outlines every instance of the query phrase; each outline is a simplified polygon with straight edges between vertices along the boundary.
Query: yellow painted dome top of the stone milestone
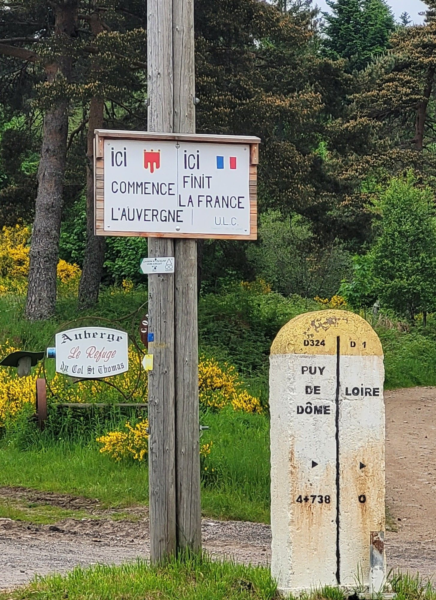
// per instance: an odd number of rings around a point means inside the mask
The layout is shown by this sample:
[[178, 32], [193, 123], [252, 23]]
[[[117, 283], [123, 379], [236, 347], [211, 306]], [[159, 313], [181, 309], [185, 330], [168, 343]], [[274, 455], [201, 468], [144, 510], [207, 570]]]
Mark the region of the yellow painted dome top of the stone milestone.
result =
[[318, 310], [300, 314], [284, 325], [271, 346], [271, 354], [383, 356], [378, 335], [356, 313]]

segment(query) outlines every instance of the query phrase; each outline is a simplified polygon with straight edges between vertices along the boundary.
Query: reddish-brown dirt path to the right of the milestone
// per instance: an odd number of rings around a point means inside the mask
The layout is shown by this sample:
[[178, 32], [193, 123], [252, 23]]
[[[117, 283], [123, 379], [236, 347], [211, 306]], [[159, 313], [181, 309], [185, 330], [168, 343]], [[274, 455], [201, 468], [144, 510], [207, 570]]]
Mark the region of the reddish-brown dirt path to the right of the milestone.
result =
[[398, 526], [387, 533], [389, 565], [436, 575], [436, 388], [386, 392], [386, 502]]

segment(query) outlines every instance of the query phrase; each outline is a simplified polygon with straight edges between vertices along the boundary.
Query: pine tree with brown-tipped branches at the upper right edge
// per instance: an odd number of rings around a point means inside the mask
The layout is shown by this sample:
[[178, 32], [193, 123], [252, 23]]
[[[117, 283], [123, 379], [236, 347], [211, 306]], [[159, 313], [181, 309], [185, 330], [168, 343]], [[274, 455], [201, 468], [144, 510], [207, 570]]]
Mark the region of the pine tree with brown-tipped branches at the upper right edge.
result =
[[414, 165], [436, 176], [436, 2], [427, 4], [425, 23], [399, 28], [390, 55], [362, 74], [354, 118], [365, 119], [374, 132], [374, 163], [399, 169]]

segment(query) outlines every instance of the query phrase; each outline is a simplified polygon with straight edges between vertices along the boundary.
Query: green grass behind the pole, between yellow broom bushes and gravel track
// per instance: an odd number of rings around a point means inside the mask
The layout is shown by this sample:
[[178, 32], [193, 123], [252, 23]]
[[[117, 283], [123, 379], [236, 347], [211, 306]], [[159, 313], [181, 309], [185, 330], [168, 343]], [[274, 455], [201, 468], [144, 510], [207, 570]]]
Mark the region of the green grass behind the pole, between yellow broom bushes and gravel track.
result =
[[[269, 421], [224, 410], [202, 416], [212, 451], [202, 470], [202, 511], [208, 517], [269, 522]], [[44, 432], [45, 434], [46, 432]], [[41, 436], [23, 450], [0, 444], [0, 487], [98, 499], [101, 508], [148, 504], [145, 464], [116, 463], [88, 439]], [[207, 467], [207, 470], [205, 470]]]

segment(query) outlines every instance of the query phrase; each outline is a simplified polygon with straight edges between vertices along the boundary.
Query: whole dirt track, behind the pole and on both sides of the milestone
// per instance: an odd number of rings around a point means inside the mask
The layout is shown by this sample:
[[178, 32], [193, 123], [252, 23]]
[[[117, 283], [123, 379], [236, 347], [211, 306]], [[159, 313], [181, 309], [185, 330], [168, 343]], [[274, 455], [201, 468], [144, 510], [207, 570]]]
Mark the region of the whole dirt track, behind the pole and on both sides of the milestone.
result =
[[[386, 498], [398, 527], [398, 532], [386, 534], [389, 567], [434, 577], [436, 388], [387, 392], [386, 438]], [[100, 511], [95, 502], [67, 495], [2, 488], [2, 497], [85, 509], [99, 518], [39, 527], [0, 519], [0, 589], [25, 583], [35, 573], [148, 556], [148, 515], [143, 508], [122, 511], [132, 521], [113, 520], [116, 511]], [[270, 529], [262, 524], [204, 520], [203, 545], [216, 556], [231, 555], [241, 562], [270, 561]]]

